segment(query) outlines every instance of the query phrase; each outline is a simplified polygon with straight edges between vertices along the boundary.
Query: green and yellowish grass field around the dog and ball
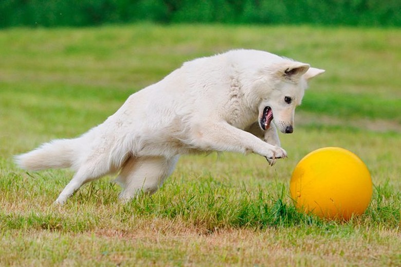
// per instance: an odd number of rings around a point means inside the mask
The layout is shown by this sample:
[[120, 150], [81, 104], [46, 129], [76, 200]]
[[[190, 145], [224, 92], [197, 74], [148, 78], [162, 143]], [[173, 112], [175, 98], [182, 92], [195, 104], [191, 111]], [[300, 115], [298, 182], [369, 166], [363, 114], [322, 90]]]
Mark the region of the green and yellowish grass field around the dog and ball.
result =
[[[104, 26], [0, 31], [0, 265], [401, 265], [401, 30]], [[117, 202], [106, 177], [52, 206], [68, 170], [25, 172], [12, 156], [82, 134], [183, 61], [263, 49], [326, 69], [297, 110], [288, 158], [183, 156], [151, 198]], [[308, 152], [347, 148], [372, 174], [349, 222], [298, 213], [289, 178]]]

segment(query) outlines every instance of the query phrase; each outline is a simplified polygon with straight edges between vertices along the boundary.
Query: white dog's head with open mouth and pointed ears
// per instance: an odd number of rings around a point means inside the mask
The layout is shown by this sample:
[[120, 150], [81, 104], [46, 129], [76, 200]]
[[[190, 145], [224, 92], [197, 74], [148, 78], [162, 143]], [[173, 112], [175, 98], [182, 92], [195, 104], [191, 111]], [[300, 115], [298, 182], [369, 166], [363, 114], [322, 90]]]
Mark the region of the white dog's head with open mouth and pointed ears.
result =
[[264, 95], [259, 105], [259, 125], [262, 130], [267, 130], [271, 121], [274, 121], [282, 133], [292, 133], [295, 108], [301, 104], [307, 81], [324, 73], [324, 70], [301, 62], [283, 60], [270, 65], [267, 72], [269, 79], [263, 86]]

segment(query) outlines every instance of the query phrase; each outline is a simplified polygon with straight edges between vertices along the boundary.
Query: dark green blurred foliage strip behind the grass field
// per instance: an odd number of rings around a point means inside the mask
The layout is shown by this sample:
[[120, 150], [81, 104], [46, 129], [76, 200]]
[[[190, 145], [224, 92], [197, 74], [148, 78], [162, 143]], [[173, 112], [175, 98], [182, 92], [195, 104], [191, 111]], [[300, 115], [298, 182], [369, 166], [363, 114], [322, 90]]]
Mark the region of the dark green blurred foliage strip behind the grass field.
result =
[[1, 0], [0, 27], [132, 22], [401, 26], [400, 0]]

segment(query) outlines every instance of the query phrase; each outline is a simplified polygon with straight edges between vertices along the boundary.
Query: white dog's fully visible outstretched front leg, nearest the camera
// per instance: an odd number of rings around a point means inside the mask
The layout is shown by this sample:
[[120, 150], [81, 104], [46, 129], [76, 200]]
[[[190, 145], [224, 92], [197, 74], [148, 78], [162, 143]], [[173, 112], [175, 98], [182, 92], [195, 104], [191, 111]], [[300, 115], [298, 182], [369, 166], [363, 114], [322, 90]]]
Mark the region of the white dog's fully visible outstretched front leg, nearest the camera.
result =
[[201, 150], [253, 152], [266, 159], [283, 158], [287, 156], [284, 149], [270, 145], [255, 135], [231, 126], [226, 121], [198, 124], [193, 128], [193, 145]]

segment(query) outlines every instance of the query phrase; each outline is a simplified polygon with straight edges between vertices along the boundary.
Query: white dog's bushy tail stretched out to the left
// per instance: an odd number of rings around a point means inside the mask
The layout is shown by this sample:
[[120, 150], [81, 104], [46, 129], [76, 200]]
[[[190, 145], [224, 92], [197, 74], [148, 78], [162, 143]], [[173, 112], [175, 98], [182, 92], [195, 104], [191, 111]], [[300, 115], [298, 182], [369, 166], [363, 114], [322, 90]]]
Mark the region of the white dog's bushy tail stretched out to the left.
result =
[[56, 139], [28, 153], [16, 155], [14, 160], [25, 170], [69, 168], [74, 165], [73, 160], [77, 155], [77, 141], [77, 139]]

